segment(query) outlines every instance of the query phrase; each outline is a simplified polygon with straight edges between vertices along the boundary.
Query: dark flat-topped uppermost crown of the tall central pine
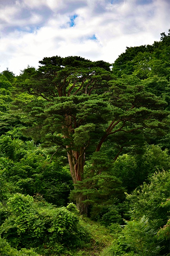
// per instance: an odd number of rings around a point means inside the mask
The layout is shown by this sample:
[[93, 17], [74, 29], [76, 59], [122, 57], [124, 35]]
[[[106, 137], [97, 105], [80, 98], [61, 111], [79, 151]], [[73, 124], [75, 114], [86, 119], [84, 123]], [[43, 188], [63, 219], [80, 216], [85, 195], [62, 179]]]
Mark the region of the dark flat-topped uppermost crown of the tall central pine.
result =
[[[18, 80], [18, 85], [23, 91], [41, 96], [49, 102], [58, 96], [99, 94], [99, 91], [103, 93], [107, 88], [111, 64], [104, 61], [92, 62], [77, 56], [53, 56], [39, 62], [42, 66], [35, 74], [23, 82]], [[22, 76], [30, 69], [24, 70]]]

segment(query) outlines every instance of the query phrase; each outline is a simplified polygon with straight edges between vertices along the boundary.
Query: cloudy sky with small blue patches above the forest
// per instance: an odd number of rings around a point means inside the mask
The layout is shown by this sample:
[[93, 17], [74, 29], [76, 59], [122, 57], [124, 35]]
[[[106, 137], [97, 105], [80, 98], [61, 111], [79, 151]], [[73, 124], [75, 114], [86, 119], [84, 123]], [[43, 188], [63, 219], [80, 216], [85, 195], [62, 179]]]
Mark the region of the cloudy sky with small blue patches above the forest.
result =
[[170, 28], [170, 0], [0, 0], [0, 72], [52, 56], [113, 63]]

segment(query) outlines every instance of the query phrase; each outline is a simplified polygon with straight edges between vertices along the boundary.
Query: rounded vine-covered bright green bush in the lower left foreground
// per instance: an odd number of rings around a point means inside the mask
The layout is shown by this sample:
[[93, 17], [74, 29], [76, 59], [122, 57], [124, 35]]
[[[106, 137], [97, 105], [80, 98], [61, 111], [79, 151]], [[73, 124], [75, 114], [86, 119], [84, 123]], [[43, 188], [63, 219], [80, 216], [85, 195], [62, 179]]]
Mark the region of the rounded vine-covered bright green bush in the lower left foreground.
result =
[[[29, 195], [16, 193], [7, 202], [8, 218], [1, 225], [1, 235], [13, 247], [46, 247], [55, 244], [78, 246], [90, 237], [78, 217], [65, 207], [37, 202]], [[57, 245], [56, 245], [57, 246]]]

